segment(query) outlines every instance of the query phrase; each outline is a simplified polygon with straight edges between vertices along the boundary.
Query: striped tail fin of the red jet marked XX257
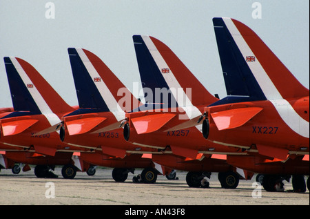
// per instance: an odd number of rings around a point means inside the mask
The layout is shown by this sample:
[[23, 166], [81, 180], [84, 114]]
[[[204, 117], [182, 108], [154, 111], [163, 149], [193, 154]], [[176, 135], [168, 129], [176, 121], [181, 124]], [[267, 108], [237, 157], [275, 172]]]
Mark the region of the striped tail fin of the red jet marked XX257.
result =
[[133, 40], [143, 90], [145, 94], [147, 89], [151, 89], [153, 93], [152, 96], [147, 94], [146, 102], [158, 102], [160, 96], [158, 92], [156, 93], [156, 88], [172, 91], [171, 99], [163, 97], [160, 99], [161, 103], [168, 106], [173, 101], [177, 106], [191, 104], [198, 106], [218, 100], [163, 42], [145, 35], [134, 35]]

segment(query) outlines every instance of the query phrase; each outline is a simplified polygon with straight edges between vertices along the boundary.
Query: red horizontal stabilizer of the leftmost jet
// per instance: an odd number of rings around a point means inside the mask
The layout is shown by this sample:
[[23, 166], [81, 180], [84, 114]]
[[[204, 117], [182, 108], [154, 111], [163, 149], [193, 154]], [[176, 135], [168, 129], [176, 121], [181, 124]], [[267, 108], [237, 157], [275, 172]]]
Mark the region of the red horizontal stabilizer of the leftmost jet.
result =
[[22, 133], [37, 122], [38, 120], [17, 120], [13, 122], [2, 123], [3, 136], [17, 135]]

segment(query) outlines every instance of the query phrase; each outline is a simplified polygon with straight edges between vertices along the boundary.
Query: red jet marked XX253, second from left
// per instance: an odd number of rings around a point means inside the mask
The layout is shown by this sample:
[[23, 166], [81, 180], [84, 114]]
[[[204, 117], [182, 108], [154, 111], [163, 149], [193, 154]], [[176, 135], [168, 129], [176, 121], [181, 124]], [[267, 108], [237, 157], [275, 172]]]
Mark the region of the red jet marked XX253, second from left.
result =
[[[143, 168], [141, 180], [155, 182], [157, 175], [149, 173], [157, 168], [167, 175], [172, 169], [162, 169], [143, 153], [158, 153], [157, 149], [142, 149], [126, 142], [120, 123], [125, 111], [132, 111], [140, 102], [107, 68], [99, 57], [83, 48], [68, 48], [79, 109], [61, 118], [59, 126], [62, 142], [94, 154], [81, 153], [79, 158], [93, 165], [114, 167], [112, 176], [117, 182], [127, 179], [129, 172]], [[55, 126], [48, 128], [54, 131]], [[45, 133], [42, 131], [41, 133]]]

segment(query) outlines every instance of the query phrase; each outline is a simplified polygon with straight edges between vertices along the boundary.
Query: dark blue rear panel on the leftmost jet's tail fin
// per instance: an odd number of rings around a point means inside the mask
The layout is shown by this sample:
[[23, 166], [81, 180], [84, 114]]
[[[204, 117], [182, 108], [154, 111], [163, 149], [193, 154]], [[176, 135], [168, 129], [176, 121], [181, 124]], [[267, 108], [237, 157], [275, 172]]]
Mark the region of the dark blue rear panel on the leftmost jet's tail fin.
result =
[[9, 57], [4, 57], [3, 59], [6, 65], [6, 74], [8, 75], [8, 84], [10, 86], [14, 111], [30, 111], [34, 114], [41, 114], [39, 107], [36, 102], [34, 102], [28, 88], [25, 86], [17, 69], [12, 64], [11, 59]]

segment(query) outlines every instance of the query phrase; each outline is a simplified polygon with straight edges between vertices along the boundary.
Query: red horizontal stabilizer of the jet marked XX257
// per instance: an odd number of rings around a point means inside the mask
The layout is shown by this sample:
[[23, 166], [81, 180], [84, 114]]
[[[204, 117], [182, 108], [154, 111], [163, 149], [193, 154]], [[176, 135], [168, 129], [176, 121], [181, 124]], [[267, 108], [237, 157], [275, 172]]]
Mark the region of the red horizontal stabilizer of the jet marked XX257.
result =
[[152, 133], [163, 127], [175, 116], [176, 115], [172, 113], [145, 115], [132, 118], [132, 123], [138, 134]]

